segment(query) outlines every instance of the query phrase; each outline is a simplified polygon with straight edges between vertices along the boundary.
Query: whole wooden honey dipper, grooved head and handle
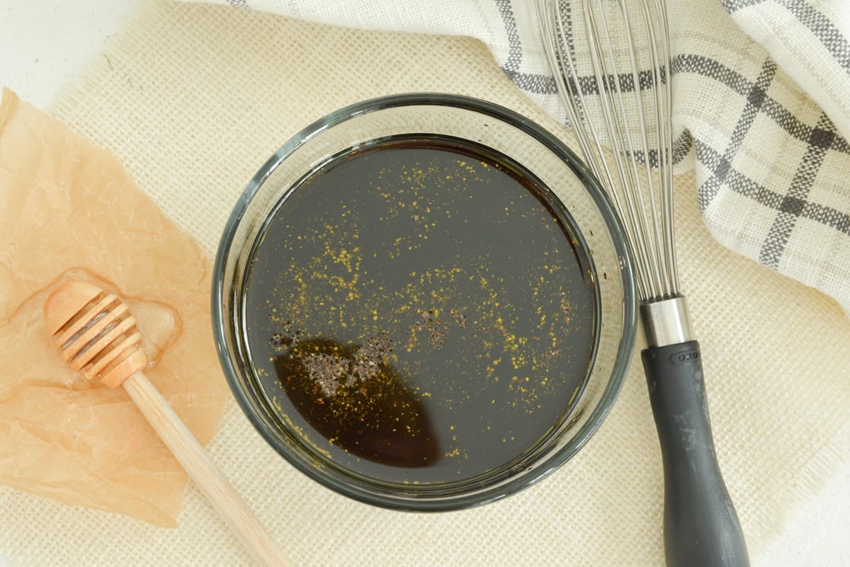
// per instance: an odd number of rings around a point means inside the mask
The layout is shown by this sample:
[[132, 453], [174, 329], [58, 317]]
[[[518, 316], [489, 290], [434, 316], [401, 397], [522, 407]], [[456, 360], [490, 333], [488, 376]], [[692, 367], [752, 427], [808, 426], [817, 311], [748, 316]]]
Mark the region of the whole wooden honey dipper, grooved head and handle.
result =
[[148, 365], [138, 322], [116, 295], [73, 281], [44, 303], [44, 319], [64, 362], [88, 379], [123, 386], [195, 485], [259, 564], [291, 567], [277, 543], [242, 502], [209, 454], [142, 370]]

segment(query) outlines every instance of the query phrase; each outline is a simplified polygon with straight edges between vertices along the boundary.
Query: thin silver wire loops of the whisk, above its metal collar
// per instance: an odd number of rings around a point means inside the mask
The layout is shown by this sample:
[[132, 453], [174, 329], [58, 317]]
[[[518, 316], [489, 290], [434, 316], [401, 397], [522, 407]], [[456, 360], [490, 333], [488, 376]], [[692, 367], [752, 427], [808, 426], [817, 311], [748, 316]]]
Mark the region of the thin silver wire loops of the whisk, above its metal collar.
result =
[[[564, 70], [555, 74], [561, 102], [588, 166], [609, 188], [623, 220], [636, 257], [641, 299], [652, 301], [679, 295], [672, 215], [672, 88], [666, 9], [657, 0], [641, 0], [639, 8], [636, 15], [623, 1], [581, 1], [587, 33], [583, 45], [591, 71], [584, 77], [571, 51], [574, 46], [567, 41], [572, 32], [567, 16], [572, 14], [552, 0], [538, 3], [550, 64]], [[623, 36], [615, 37], [612, 29]], [[638, 44], [644, 47], [643, 58]], [[592, 97], [598, 97], [595, 105]], [[589, 117], [593, 108], [598, 120]], [[654, 132], [648, 124], [655, 126]], [[613, 158], [606, 157], [605, 143]]]

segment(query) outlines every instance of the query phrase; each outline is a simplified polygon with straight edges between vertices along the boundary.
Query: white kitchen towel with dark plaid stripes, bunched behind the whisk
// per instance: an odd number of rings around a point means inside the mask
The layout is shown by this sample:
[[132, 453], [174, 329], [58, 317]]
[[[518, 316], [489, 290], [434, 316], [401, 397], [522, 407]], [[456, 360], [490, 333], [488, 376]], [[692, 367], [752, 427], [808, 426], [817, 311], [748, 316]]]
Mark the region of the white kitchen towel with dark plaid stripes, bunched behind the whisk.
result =
[[[564, 121], [536, 0], [213, 1], [326, 24], [476, 37], [517, 87]], [[667, 8], [677, 171], [694, 169], [706, 226], [728, 248], [848, 311], [850, 10], [842, 0], [670, 0]]]

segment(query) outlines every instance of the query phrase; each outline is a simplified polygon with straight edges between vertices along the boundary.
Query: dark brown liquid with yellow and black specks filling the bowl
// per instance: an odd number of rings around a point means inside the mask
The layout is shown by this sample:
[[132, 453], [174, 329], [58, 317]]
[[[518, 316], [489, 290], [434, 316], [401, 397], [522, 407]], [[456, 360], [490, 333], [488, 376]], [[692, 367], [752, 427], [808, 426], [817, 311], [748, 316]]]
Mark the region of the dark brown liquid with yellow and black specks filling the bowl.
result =
[[243, 288], [258, 381], [337, 466], [399, 483], [517, 463], [592, 366], [592, 264], [527, 171], [453, 138], [337, 156], [269, 216]]

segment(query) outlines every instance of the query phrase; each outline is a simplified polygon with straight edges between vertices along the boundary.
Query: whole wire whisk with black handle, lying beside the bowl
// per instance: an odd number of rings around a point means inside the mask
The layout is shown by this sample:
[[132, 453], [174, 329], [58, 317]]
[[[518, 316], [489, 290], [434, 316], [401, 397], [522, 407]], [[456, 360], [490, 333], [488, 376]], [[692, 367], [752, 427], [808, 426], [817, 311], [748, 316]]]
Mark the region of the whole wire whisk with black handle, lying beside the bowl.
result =
[[664, 0], [537, 0], [558, 98], [608, 189], [635, 263], [642, 351], [665, 480], [668, 567], [749, 565], [717, 465], [700, 345], [673, 235], [672, 86]]

